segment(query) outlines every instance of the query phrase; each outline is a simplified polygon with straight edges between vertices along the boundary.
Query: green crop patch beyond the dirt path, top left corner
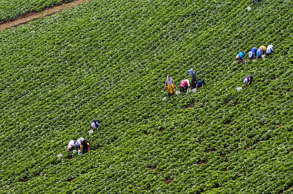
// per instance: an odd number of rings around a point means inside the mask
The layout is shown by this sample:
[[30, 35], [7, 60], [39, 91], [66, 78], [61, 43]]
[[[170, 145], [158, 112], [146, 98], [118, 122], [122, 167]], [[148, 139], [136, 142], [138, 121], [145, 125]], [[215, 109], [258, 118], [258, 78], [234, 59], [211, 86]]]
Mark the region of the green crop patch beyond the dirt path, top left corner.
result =
[[[66, 0], [70, 2], [71, 0]], [[15, 19], [30, 11], [42, 11], [45, 7], [59, 5], [63, 0], [0, 0], [0, 21]]]

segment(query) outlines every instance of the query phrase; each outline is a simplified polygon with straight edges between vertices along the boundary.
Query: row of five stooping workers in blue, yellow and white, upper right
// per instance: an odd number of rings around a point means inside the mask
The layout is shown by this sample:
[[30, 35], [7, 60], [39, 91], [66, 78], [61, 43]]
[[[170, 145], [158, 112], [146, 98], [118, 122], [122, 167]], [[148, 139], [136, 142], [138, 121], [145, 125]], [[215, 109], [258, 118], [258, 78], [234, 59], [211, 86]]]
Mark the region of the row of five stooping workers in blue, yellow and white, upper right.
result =
[[[265, 46], [260, 46], [258, 49], [256, 47], [252, 47], [250, 52], [248, 52], [248, 60], [252, 60], [253, 58], [255, 58], [255, 60], [257, 60], [258, 58], [263, 58], [263, 55], [265, 54], [267, 54], [267, 57], [269, 57], [272, 54], [272, 52], [273, 52], [272, 44], [270, 44], [268, 48]], [[238, 55], [236, 56], [237, 62], [240, 62], [240, 63], [243, 62], [244, 56], [245, 56], [245, 52], [240, 51]]]

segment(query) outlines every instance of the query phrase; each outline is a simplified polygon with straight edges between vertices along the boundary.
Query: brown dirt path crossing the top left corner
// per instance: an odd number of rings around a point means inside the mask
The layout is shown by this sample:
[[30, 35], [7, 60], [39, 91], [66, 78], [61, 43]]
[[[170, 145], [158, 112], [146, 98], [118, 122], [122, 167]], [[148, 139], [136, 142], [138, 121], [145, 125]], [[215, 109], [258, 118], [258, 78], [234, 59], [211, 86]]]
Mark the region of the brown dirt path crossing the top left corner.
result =
[[30, 21], [34, 21], [37, 19], [41, 19], [46, 16], [51, 16], [55, 13], [62, 12], [65, 9], [77, 6], [81, 3], [88, 2], [88, 1], [89, 0], [72, 0], [70, 3], [63, 2], [60, 5], [55, 5], [53, 7], [45, 8], [41, 12], [28, 12], [24, 15], [20, 15], [20, 16], [16, 17], [16, 19], [1, 21], [0, 22], [0, 31], [7, 29], [7, 28], [17, 27], [21, 24], [24, 24], [24, 23], [27, 23]]

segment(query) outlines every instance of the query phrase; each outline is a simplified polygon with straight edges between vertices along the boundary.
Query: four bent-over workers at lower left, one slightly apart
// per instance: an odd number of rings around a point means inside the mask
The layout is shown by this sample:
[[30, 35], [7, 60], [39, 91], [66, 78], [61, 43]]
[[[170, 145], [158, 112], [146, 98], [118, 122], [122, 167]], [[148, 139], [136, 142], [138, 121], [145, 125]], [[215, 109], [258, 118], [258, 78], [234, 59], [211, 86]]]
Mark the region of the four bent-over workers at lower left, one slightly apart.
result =
[[[97, 131], [98, 128], [101, 127], [100, 121], [98, 119], [95, 119], [91, 123], [91, 127], [94, 131]], [[90, 144], [88, 140], [85, 140], [84, 137], [79, 138], [78, 140], [70, 140], [67, 146], [67, 151], [70, 152], [74, 150], [74, 148], [77, 148], [78, 154], [83, 155], [87, 153], [90, 150]]]

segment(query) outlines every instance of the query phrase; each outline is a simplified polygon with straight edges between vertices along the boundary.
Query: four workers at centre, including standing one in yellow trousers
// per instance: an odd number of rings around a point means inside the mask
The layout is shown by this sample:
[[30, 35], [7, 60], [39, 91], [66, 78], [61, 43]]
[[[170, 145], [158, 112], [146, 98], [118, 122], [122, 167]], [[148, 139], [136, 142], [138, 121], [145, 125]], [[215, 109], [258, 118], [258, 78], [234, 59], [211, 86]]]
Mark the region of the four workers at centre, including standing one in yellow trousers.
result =
[[[190, 69], [188, 72], [189, 72], [189, 75], [191, 75], [191, 89], [195, 89], [195, 88], [198, 89], [198, 88], [204, 86], [204, 82], [201, 80], [201, 78], [196, 80], [196, 75], [195, 75], [193, 69]], [[181, 84], [180, 84], [180, 92], [185, 92], [185, 89], [188, 90], [189, 86], [190, 86], [190, 84], [189, 84], [188, 79], [182, 80]], [[166, 90], [166, 87], [167, 87], [167, 91], [168, 91], [168, 97], [171, 97], [172, 95], [175, 94], [174, 80], [171, 78], [170, 75], [167, 76], [167, 80], [165, 81], [164, 90]]]

